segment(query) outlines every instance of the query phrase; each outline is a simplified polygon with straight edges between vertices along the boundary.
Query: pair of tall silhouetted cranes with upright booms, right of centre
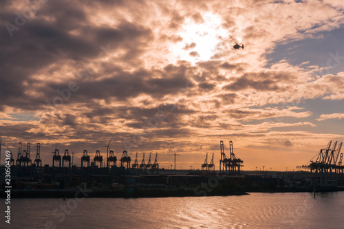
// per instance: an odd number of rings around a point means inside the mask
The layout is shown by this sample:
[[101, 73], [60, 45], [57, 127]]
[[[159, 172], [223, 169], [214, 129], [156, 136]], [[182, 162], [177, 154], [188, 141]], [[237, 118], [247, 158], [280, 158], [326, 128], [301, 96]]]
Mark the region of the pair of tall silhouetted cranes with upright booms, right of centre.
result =
[[229, 151], [230, 157], [228, 158], [224, 153], [224, 142], [220, 141], [220, 151], [221, 151], [221, 159], [219, 160], [219, 172], [222, 174], [230, 174], [230, 175], [240, 175], [241, 167], [244, 166], [241, 163], [243, 161], [235, 156], [233, 151], [233, 142], [229, 142]]

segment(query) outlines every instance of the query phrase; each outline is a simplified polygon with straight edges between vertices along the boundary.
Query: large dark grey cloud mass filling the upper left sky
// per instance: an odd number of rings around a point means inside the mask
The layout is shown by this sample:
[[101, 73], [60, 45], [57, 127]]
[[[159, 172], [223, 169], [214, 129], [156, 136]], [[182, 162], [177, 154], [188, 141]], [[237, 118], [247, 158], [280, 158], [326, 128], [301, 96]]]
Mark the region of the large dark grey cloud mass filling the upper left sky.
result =
[[[1, 14], [0, 20], [3, 23], [15, 23], [16, 17], [16, 12], [8, 10], [6, 14]], [[12, 37], [6, 27], [0, 30], [1, 106], [42, 109], [45, 98], [34, 98], [25, 92], [44, 91], [47, 98], [54, 98], [58, 96], [56, 89], [67, 87], [58, 87], [64, 85], [52, 83], [35, 87], [36, 84], [42, 85], [42, 81], [32, 76], [41, 69], [66, 61], [76, 61], [78, 66], [86, 65], [92, 59], [98, 58], [102, 50], [108, 48], [114, 52], [118, 47], [126, 51], [122, 56], [123, 60], [133, 61], [137, 54], [142, 52], [141, 42], [151, 36], [151, 30], [135, 22], [122, 21], [116, 28], [92, 25], [88, 22], [84, 8], [69, 1], [49, 1], [37, 10], [36, 17], [25, 21], [22, 28], [13, 31]], [[79, 33], [69, 33], [72, 30]], [[114, 85], [114, 89], [119, 91], [117, 95], [120, 96], [123, 91], [122, 82], [105, 80], [104, 87], [107, 83]], [[130, 82], [132, 86], [127, 88], [138, 87], [138, 83], [140, 82]], [[83, 86], [84, 90], [89, 89], [97, 97], [94, 87], [87, 84]], [[129, 89], [129, 93], [132, 92]]]

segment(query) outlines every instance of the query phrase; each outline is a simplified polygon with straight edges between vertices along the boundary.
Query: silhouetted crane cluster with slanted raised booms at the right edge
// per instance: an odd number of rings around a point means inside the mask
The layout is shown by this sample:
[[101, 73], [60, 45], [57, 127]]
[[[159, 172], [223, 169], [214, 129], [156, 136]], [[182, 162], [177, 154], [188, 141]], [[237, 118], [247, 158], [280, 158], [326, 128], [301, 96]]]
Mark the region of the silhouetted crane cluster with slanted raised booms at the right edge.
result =
[[[325, 149], [321, 149], [308, 163], [303, 166], [297, 166], [297, 168], [309, 169], [312, 173], [311, 184], [321, 186], [336, 186], [338, 184], [338, 173], [343, 173], [343, 153], [341, 153], [341, 147], [343, 142], [338, 145], [337, 141], [332, 146], [332, 140], [327, 144]], [[339, 160], [338, 160], [339, 158]]]

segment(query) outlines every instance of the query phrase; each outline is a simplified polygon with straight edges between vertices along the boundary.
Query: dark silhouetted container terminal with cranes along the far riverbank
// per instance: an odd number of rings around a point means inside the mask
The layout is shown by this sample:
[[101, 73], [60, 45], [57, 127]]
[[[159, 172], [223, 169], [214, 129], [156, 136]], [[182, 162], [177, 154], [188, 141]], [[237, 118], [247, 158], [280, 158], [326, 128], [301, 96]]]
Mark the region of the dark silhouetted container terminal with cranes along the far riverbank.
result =
[[[110, 141], [111, 142], [111, 141]], [[110, 144], [109, 142], [109, 144]], [[11, 154], [11, 185], [14, 197], [61, 197], [72, 195], [77, 187], [89, 190], [91, 197], [164, 197], [197, 195], [241, 195], [246, 192], [297, 192], [344, 190], [343, 153], [338, 144], [330, 141], [307, 164], [297, 171], [244, 171], [244, 161], [234, 153], [229, 142], [229, 153], [224, 142], [219, 144], [219, 164], [214, 153], [208, 162], [205, 155], [201, 169], [178, 170], [160, 168], [158, 153], [148, 158], [138, 153], [132, 160], [127, 151], [117, 158], [107, 147], [107, 154], [97, 150], [92, 158], [87, 150], [74, 164], [74, 152], [57, 148], [52, 151], [52, 166], [42, 166], [41, 144], [36, 144], [32, 161], [31, 144], [26, 149], [19, 142], [17, 160]], [[174, 156], [178, 155], [174, 152]], [[153, 158], [154, 157], [154, 158]], [[133, 162], [132, 162], [133, 161]], [[218, 169], [216, 169], [216, 167]], [[2, 188], [5, 188], [5, 166], [0, 168]], [[3, 192], [2, 192], [3, 193]], [[69, 194], [68, 194], [69, 193]]]

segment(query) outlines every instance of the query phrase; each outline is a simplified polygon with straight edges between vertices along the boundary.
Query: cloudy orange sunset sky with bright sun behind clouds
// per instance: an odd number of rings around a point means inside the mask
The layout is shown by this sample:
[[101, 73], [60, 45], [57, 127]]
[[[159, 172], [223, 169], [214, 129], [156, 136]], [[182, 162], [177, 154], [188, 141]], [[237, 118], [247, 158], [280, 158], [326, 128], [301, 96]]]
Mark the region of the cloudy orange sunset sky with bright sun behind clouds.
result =
[[[106, 147], [292, 171], [343, 142], [344, 2], [1, 1], [0, 132], [43, 164]], [[244, 44], [234, 50], [233, 45]], [[2, 147], [1, 164], [4, 164]]]

